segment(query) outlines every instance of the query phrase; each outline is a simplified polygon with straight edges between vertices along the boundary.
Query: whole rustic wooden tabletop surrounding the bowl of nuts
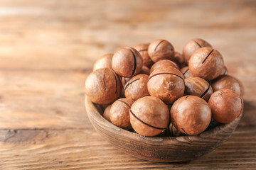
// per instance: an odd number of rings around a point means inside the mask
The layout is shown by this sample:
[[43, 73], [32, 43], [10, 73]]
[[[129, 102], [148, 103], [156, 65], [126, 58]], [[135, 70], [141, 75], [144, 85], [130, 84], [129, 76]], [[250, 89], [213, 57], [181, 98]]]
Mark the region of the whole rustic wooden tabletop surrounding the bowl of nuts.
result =
[[[0, 1], [0, 169], [256, 169], [256, 1]], [[92, 128], [84, 81], [117, 47], [208, 40], [245, 86], [230, 139], [188, 163], [119, 152]]]

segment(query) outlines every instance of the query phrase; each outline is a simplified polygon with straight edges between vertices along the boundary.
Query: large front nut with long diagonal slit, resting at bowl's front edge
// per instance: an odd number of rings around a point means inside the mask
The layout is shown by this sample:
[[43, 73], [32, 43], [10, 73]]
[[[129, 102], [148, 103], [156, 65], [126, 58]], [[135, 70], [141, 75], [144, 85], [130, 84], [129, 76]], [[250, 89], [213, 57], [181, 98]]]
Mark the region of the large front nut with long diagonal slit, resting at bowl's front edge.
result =
[[130, 109], [132, 128], [144, 136], [155, 136], [166, 130], [170, 113], [159, 98], [145, 96], [135, 101]]

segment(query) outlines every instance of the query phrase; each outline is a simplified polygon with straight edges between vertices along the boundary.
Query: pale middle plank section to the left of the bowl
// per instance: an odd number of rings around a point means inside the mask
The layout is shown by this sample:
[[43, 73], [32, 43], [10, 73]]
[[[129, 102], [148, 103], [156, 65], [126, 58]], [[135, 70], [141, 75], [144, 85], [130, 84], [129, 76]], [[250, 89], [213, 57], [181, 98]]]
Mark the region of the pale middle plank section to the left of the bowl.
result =
[[86, 73], [0, 72], [0, 129], [91, 128], [84, 108]]

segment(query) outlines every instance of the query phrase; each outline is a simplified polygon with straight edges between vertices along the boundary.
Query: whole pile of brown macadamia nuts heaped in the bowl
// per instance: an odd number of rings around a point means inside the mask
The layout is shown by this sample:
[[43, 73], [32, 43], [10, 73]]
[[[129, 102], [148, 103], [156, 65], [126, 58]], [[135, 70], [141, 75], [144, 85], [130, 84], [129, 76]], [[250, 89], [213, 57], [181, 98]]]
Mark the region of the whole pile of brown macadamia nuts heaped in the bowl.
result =
[[121, 47], [100, 57], [85, 81], [106, 120], [144, 136], [197, 135], [230, 123], [242, 113], [242, 92], [220, 52], [200, 38], [182, 54], [167, 40]]

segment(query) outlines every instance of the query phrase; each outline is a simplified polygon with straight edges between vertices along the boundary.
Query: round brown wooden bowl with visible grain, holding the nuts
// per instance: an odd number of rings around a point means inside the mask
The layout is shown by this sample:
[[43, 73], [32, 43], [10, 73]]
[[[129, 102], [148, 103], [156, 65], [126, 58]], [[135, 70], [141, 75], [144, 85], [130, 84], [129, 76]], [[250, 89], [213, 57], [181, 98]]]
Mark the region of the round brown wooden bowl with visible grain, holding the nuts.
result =
[[182, 137], [144, 137], [118, 128], [102, 117], [102, 111], [85, 97], [87, 115], [97, 132], [122, 152], [154, 162], [187, 162], [220, 146], [237, 127], [241, 115], [233, 122], [219, 125], [199, 135]]

